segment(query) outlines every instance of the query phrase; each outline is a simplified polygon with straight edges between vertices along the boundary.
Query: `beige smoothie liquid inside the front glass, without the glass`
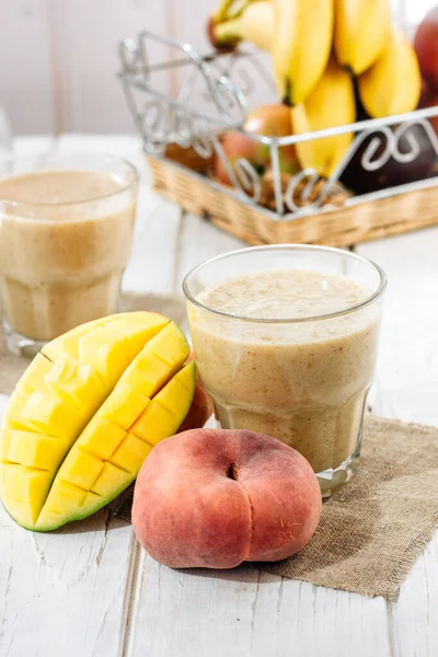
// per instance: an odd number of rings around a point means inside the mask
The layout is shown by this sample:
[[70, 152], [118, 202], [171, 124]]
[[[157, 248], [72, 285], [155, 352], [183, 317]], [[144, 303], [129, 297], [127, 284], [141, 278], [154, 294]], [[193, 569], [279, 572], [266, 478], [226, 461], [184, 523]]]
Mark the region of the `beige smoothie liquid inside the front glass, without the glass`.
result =
[[226, 321], [188, 303], [198, 372], [221, 425], [279, 438], [315, 472], [354, 454], [374, 371], [376, 309], [279, 320], [337, 313], [369, 296], [347, 277], [295, 269], [250, 274], [201, 291], [196, 300], [203, 307], [245, 318]]

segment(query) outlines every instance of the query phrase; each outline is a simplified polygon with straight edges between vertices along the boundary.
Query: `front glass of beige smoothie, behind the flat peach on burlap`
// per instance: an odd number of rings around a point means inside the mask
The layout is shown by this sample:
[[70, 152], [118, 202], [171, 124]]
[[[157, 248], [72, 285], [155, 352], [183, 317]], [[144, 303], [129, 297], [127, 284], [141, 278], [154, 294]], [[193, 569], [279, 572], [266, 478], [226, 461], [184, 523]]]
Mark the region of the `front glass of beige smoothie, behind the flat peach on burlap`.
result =
[[297, 449], [324, 497], [360, 453], [385, 286], [364, 257], [298, 244], [220, 255], [183, 284], [197, 371], [222, 427]]

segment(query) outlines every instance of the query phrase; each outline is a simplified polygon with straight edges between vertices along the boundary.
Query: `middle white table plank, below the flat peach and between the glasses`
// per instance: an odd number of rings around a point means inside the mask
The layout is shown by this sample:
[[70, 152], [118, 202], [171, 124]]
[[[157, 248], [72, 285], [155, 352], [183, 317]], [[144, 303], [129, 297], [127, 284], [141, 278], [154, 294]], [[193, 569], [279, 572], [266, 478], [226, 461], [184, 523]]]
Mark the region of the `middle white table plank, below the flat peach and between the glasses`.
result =
[[[163, 223], [172, 206], [163, 206]], [[184, 215], [175, 291], [203, 261], [245, 246], [207, 221]], [[139, 555], [128, 655], [140, 657], [387, 657], [387, 606], [241, 567], [182, 573]]]

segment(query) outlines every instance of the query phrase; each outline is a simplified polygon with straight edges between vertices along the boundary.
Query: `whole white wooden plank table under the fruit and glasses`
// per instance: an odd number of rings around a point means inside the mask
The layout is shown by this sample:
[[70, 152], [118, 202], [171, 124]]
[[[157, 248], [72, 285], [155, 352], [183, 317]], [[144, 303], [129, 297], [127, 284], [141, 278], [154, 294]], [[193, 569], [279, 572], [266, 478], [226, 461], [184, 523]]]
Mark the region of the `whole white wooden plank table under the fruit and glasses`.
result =
[[[49, 138], [16, 140], [21, 152]], [[242, 245], [148, 186], [135, 137], [62, 136], [141, 170], [127, 289], [178, 292], [188, 268]], [[438, 208], [437, 208], [438, 211]], [[376, 413], [438, 425], [438, 227], [357, 246], [388, 273]], [[7, 399], [0, 397], [0, 412]], [[74, 530], [26, 532], [0, 511], [0, 657], [437, 657], [438, 535], [397, 601], [249, 567], [176, 572], [106, 511]]]

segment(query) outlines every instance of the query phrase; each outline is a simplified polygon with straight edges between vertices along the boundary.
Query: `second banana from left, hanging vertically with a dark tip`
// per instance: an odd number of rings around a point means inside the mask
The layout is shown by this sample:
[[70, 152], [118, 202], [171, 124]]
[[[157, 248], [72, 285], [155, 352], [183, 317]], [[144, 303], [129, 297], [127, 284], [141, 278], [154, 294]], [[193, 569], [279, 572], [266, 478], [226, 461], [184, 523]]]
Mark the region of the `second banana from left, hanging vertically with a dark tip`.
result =
[[306, 100], [327, 65], [333, 41], [333, 0], [272, 0], [274, 72], [280, 99]]

